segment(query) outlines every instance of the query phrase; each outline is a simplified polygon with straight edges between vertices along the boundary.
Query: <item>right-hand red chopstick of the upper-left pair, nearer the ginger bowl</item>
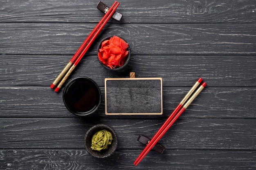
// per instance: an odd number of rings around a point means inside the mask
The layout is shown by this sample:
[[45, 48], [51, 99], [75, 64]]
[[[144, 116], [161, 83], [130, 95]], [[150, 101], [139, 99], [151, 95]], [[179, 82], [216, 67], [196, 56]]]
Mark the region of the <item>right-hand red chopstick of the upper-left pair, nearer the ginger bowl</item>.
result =
[[[114, 3], [116, 4], [116, 2]], [[74, 64], [70, 67], [70, 69], [67, 71], [67, 73], [65, 74], [65, 76], [62, 78], [61, 82], [58, 84], [58, 86], [55, 89], [55, 92], [58, 92], [62, 85], [65, 83], [65, 81], [67, 80], [67, 78], [70, 76], [70, 74], [73, 72], [74, 68], [76, 67], [76, 65], [81, 61], [81, 59], [83, 58], [83, 55], [87, 52], [87, 50], [90, 48], [90, 46], [92, 45], [93, 41], [97, 38], [97, 36], [99, 35], [99, 33], [101, 32], [101, 30], [103, 29], [103, 27], [107, 24], [108, 20], [110, 19], [110, 17], [112, 17], [112, 15], [115, 13], [115, 10], [117, 9], [117, 7], [119, 6], [119, 2], [117, 3], [117, 5], [112, 5], [112, 7], [108, 10], [108, 12], [106, 13], [107, 18], [106, 20], [103, 22], [103, 24], [100, 26], [100, 28], [97, 30], [97, 32], [93, 35], [92, 39], [89, 41], [89, 43], [87, 44], [87, 46], [85, 47], [85, 49], [83, 50], [83, 52], [81, 52], [81, 54], [79, 55], [78, 59], [74, 62]], [[114, 7], [115, 6], [115, 7]]]

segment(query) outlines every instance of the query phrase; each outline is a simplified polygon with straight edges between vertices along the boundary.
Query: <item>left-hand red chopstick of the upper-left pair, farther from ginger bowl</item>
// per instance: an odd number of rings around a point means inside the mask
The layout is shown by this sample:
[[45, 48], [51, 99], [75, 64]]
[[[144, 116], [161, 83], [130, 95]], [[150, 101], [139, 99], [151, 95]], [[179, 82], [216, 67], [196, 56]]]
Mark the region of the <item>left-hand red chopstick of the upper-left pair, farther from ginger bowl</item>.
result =
[[[61, 80], [61, 78], [65, 75], [65, 73], [67, 72], [67, 70], [70, 69], [70, 67], [72, 66], [72, 64], [75, 62], [76, 58], [79, 56], [79, 54], [81, 53], [81, 51], [85, 48], [86, 44], [89, 42], [89, 40], [91, 39], [91, 37], [94, 35], [94, 33], [99, 29], [99, 27], [101, 26], [101, 24], [104, 22], [104, 20], [108, 17], [108, 14], [111, 13], [110, 11], [114, 8], [114, 6], [117, 4], [117, 1], [114, 2], [114, 4], [112, 4], [112, 6], [110, 7], [110, 9], [108, 10], [108, 12], [102, 17], [102, 19], [99, 21], [99, 23], [97, 24], [97, 26], [95, 26], [95, 28], [92, 30], [92, 32], [90, 33], [90, 35], [85, 39], [85, 41], [83, 42], [83, 44], [80, 46], [80, 48], [76, 51], [76, 53], [74, 54], [74, 56], [72, 57], [72, 59], [70, 59], [69, 63], [67, 63], [67, 65], [65, 66], [65, 68], [61, 71], [61, 73], [58, 75], [58, 77], [54, 80], [54, 82], [52, 83], [52, 85], [50, 86], [52, 89], [54, 89], [54, 87], [58, 84], [58, 82]], [[111, 15], [112, 16], [112, 15]], [[108, 19], [109, 20], [109, 19]], [[102, 29], [102, 28], [101, 28]]]

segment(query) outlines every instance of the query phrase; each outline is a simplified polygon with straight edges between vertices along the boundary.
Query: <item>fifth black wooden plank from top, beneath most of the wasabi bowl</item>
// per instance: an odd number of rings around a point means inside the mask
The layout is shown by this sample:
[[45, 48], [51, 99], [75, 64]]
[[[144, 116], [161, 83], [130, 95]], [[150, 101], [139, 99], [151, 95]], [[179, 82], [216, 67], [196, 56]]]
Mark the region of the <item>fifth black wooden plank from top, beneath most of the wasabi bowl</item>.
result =
[[[184, 113], [186, 114], [186, 113]], [[95, 124], [112, 126], [118, 149], [142, 150], [140, 134], [153, 137], [165, 119], [1, 118], [1, 149], [83, 149]], [[179, 119], [159, 141], [168, 149], [256, 150], [255, 119]]]

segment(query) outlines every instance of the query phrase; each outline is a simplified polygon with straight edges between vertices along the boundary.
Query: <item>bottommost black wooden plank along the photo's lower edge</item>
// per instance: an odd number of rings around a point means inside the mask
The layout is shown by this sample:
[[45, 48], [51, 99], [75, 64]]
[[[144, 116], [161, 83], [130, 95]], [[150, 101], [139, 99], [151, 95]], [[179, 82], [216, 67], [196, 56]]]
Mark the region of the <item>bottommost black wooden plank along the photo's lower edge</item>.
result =
[[[132, 163], [138, 150], [117, 150], [111, 157], [95, 159], [84, 149], [80, 150], [0, 150], [0, 168], [13, 169], [199, 169], [248, 170], [255, 169], [255, 151], [243, 150], [166, 150], [160, 155], [151, 151], [135, 167]], [[22, 161], [19, 161], [22, 160]], [[167, 164], [166, 162], [171, 163]]]

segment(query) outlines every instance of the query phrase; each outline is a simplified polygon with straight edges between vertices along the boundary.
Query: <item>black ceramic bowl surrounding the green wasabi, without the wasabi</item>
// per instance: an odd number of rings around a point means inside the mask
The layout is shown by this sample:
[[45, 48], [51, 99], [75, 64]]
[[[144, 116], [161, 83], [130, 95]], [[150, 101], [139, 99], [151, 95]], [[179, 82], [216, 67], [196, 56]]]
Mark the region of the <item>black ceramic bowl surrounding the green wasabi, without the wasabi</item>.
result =
[[[112, 133], [113, 140], [112, 140], [111, 144], [108, 146], [107, 149], [103, 149], [101, 151], [92, 150], [92, 148], [91, 148], [91, 146], [92, 146], [92, 136], [95, 133], [97, 133], [98, 131], [103, 130], [103, 129], [106, 129], [107, 131]], [[106, 124], [97, 124], [95, 126], [92, 126], [87, 131], [87, 133], [85, 134], [84, 143], [85, 143], [86, 150], [93, 157], [97, 157], [97, 158], [109, 157], [117, 149], [117, 134], [115, 133], [115, 131], [110, 126], [108, 126]]]

